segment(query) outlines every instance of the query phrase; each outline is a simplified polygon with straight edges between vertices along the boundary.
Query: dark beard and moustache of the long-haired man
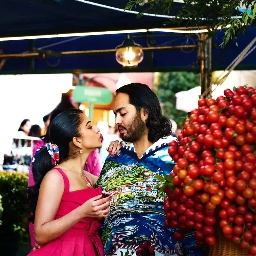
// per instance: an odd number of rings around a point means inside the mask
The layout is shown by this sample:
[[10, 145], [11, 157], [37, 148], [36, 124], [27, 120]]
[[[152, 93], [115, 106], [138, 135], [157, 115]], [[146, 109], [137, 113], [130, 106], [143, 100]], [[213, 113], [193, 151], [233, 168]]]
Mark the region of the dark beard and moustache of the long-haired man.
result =
[[136, 112], [136, 115], [132, 118], [130, 124], [128, 124], [127, 127], [122, 125], [118, 127], [122, 127], [126, 130], [126, 134], [120, 133], [121, 139], [126, 142], [139, 140], [147, 131], [147, 126], [142, 121], [140, 112]]

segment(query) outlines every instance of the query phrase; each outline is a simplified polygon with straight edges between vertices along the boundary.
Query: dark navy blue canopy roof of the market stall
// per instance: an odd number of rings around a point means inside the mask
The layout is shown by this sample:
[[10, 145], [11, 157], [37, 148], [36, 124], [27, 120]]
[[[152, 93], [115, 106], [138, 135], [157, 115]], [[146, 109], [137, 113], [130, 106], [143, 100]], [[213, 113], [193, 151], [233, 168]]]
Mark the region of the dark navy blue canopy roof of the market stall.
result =
[[[93, 2], [92, 2], [93, 1]], [[3, 37], [35, 36], [75, 32], [95, 32], [129, 29], [165, 28], [167, 17], [144, 16], [137, 18], [136, 13], [123, 9], [127, 0], [3, 0], [0, 4], [0, 50], [8, 53], [29, 52], [33, 48], [62, 51], [83, 51], [114, 49], [124, 40], [124, 34], [76, 36], [63, 38], [44, 38], [36, 40], [1, 41]], [[97, 2], [97, 3], [96, 3]], [[114, 8], [112, 8], [114, 7]], [[170, 15], [175, 15], [181, 7], [174, 3]], [[138, 7], [143, 10], [145, 7]], [[147, 11], [149, 12], [149, 11]], [[153, 11], [152, 11], [153, 12]], [[155, 11], [154, 11], [155, 12]], [[153, 46], [196, 44], [196, 36], [166, 32], [150, 32], [156, 36]], [[249, 27], [243, 36], [230, 42], [224, 50], [216, 47], [212, 52], [213, 70], [225, 69], [232, 60], [252, 41], [256, 28]], [[132, 34], [136, 43], [147, 47], [145, 33]], [[223, 32], [218, 31], [213, 45], [221, 43]], [[136, 69], [124, 69], [115, 60], [115, 54], [77, 55], [69, 57], [49, 57], [46, 59], [0, 59], [0, 74], [28, 73], [106, 73], [106, 72], [146, 72], [171, 70], [199, 70], [196, 66], [196, 50], [172, 50], [164, 52], [145, 52], [144, 60]], [[237, 67], [256, 69], [256, 51], [252, 51]], [[199, 63], [197, 63], [199, 64]]]

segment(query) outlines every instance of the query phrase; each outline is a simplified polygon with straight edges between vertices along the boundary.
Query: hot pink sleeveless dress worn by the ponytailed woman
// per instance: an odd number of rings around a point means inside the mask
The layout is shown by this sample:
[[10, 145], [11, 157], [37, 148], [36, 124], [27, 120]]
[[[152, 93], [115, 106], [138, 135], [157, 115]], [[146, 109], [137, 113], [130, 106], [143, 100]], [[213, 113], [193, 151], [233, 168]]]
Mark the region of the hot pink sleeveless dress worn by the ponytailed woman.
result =
[[[101, 187], [69, 192], [67, 175], [60, 168], [55, 169], [61, 173], [65, 184], [55, 220], [71, 212], [90, 198], [101, 194]], [[90, 182], [90, 180], [88, 181]], [[29, 253], [28, 256], [103, 256], [103, 245], [98, 235], [100, 227], [101, 219], [84, 218], [66, 233], [43, 245], [41, 249]]]

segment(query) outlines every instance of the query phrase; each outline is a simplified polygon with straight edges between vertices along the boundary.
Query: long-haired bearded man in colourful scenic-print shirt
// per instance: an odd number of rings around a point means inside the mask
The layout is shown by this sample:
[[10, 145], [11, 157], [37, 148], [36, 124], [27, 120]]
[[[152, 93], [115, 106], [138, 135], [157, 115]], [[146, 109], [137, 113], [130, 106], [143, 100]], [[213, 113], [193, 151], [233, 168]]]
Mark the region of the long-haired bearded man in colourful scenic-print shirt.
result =
[[111, 195], [101, 236], [105, 256], [203, 255], [193, 234], [177, 243], [174, 230], [164, 228], [166, 195], [156, 175], [172, 171], [168, 147], [176, 138], [155, 93], [145, 84], [125, 85], [116, 91], [114, 112], [124, 146], [119, 155], [109, 147], [97, 184]]

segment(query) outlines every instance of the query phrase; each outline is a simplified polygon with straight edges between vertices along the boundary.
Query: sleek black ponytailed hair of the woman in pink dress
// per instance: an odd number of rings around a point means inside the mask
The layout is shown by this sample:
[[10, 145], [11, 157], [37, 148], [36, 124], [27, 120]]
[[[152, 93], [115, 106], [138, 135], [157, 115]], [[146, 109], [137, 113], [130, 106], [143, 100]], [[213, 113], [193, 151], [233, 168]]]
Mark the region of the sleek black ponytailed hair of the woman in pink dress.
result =
[[[82, 123], [83, 111], [69, 109], [57, 115], [50, 124], [49, 133], [53, 144], [57, 144], [60, 154], [60, 162], [68, 157], [74, 157], [76, 152], [70, 152], [69, 143], [74, 137], [80, 137], [80, 125]], [[28, 199], [31, 208], [30, 221], [34, 222], [36, 204], [41, 182], [47, 172], [53, 168], [52, 158], [43, 148], [38, 152], [33, 163], [32, 172], [35, 186], [28, 187]]]

